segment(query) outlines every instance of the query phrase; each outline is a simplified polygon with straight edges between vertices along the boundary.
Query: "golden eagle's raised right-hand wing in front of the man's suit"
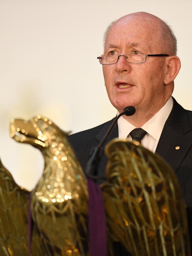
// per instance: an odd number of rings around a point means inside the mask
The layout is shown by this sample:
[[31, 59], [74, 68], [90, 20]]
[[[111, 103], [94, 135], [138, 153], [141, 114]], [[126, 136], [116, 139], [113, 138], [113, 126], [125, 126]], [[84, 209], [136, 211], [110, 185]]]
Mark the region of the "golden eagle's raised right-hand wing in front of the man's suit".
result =
[[102, 185], [110, 239], [134, 256], [190, 255], [185, 204], [171, 167], [127, 140], [106, 148]]

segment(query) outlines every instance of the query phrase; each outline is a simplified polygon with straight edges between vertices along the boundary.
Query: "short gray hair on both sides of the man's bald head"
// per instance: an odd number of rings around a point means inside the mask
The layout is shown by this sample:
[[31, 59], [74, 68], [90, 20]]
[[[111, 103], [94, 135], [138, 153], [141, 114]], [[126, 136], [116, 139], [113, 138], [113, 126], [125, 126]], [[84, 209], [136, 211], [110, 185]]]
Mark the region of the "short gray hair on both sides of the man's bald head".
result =
[[[110, 30], [110, 28], [113, 26], [113, 24], [117, 20], [112, 21], [107, 29], [105, 30], [104, 36], [103, 36], [103, 46], [105, 47], [105, 40], [107, 37], [107, 34]], [[170, 49], [171, 53], [173, 55], [177, 54], [177, 38], [175, 37], [173, 30], [171, 26], [169, 26], [165, 21], [161, 20], [160, 26], [162, 28], [161, 35], [164, 41], [166, 41], [168, 48]]]

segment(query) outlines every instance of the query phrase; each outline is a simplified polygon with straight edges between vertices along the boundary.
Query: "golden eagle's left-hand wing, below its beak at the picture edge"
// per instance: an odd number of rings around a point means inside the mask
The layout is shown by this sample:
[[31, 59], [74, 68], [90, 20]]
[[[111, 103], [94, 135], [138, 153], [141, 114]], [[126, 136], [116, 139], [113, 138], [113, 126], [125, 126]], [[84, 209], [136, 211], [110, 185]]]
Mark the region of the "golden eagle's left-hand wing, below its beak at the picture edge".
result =
[[[28, 256], [28, 206], [30, 192], [19, 187], [0, 161], [0, 255]], [[45, 250], [33, 230], [32, 255], [43, 256]]]

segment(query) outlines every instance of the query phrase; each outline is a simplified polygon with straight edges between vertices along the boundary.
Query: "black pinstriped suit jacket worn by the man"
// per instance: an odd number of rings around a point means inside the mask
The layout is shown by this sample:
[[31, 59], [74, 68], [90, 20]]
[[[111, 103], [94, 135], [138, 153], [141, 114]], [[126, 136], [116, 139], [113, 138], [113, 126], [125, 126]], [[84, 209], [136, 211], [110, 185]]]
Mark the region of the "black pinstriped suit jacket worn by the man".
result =
[[[89, 153], [98, 145], [107, 132], [113, 119], [95, 128], [78, 132], [69, 136], [79, 162], [85, 170]], [[105, 145], [113, 138], [118, 137], [118, 126], [113, 129]], [[178, 150], [175, 147], [179, 146]], [[173, 98], [173, 109], [165, 122], [156, 152], [161, 155], [175, 171], [178, 177], [183, 198], [187, 206], [188, 226], [192, 244], [192, 111], [185, 110]], [[98, 175], [105, 176], [107, 157], [102, 155]], [[98, 183], [104, 182], [103, 179]], [[117, 255], [127, 255], [123, 252]]]

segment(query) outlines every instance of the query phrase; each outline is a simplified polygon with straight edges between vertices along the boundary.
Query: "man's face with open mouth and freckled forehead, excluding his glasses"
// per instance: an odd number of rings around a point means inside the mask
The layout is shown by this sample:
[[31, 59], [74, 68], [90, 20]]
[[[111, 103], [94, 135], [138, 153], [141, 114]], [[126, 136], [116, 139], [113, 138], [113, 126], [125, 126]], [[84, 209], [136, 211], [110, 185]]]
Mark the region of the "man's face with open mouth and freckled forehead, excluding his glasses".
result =
[[[159, 31], [159, 23], [155, 20], [139, 16], [122, 18], [109, 30], [104, 53], [167, 54]], [[116, 64], [102, 66], [108, 97], [119, 112], [126, 106], [147, 110], [165, 104], [170, 97], [167, 98], [164, 84], [165, 58], [147, 57], [146, 62], [134, 64], [120, 56]]]

